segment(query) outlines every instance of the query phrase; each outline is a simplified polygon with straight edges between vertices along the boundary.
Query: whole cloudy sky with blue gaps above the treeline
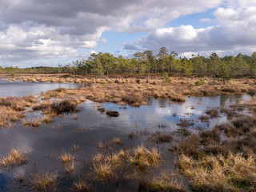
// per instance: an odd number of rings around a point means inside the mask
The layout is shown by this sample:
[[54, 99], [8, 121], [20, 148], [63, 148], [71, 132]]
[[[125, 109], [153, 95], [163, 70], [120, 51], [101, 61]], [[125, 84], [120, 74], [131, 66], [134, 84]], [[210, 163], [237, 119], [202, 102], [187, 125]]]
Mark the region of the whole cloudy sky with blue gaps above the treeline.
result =
[[256, 51], [255, 0], [0, 0], [0, 66], [58, 66], [165, 46], [190, 58]]

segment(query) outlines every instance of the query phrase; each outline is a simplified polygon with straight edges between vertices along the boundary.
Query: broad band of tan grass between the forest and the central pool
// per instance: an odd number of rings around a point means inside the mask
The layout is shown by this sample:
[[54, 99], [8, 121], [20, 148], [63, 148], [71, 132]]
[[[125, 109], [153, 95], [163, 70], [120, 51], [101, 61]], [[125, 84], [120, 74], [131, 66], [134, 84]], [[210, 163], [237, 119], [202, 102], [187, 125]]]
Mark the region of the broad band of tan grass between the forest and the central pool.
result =
[[[174, 102], [184, 102], [184, 96], [216, 96], [220, 94], [254, 94], [252, 88], [254, 81], [248, 83], [248, 79], [232, 79], [223, 85], [223, 82], [215, 81], [214, 78], [203, 78], [205, 85], [196, 86], [198, 78], [172, 77], [171, 83], [164, 83], [162, 77], [153, 76], [152, 81], [147, 83], [146, 77], [138, 78], [57, 78], [57, 77], [22, 77], [23, 81], [39, 82], [86, 82], [92, 86], [80, 91], [67, 91], [58, 89], [42, 98], [64, 98], [66, 94], [85, 95], [94, 102], [125, 102], [130, 106], [146, 105], [147, 98], [170, 98]], [[125, 86], [123, 86], [125, 84]], [[78, 93], [79, 92], [79, 93]], [[113, 97], [114, 96], [114, 97]]]

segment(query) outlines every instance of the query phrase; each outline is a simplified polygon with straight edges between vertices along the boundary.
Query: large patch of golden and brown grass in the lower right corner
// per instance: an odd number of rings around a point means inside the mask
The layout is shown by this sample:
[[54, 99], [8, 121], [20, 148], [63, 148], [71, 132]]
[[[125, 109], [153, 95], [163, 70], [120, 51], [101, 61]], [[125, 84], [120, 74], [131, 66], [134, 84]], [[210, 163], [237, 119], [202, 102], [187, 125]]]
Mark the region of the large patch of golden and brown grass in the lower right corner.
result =
[[254, 106], [255, 100], [250, 99], [246, 103], [232, 106], [232, 110], [221, 109], [226, 114], [247, 109], [251, 114], [238, 113], [229, 122], [193, 134], [179, 142], [178, 166], [182, 174], [191, 179], [191, 190], [256, 190]]

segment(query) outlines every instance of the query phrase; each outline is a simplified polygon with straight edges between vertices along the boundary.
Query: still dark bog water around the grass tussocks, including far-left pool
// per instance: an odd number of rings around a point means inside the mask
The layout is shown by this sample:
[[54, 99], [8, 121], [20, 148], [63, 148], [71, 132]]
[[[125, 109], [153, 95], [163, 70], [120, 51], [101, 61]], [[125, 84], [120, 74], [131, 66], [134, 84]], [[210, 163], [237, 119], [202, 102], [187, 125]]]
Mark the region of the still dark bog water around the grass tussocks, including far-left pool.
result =
[[[59, 87], [76, 88], [84, 86], [72, 83], [48, 82], [0, 82], [0, 96], [24, 96], [40, 94], [41, 91]], [[191, 131], [208, 129], [218, 123], [225, 122], [226, 116], [219, 114], [207, 122], [198, 119], [206, 110], [214, 109], [229, 103], [238, 103], [250, 98], [244, 96], [218, 96], [214, 98], [186, 98], [186, 102], [178, 104], [162, 99], [150, 99], [149, 106], [130, 107], [118, 106], [112, 103], [95, 103], [86, 100], [78, 105], [80, 111], [76, 114], [65, 114], [54, 118], [50, 124], [42, 124], [38, 128], [22, 126], [17, 122], [11, 129], [0, 130], [0, 154], [6, 156], [12, 148], [24, 150], [28, 154], [29, 162], [23, 166], [0, 169], [0, 191], [31, 190], [29, 179], [34, 174], [47, 171], [58, 174], [58, 191], [70, 191], [72, 182], [78, 178], [90, 178], [90, 160], [98, 152], [111, 153], [121, 149], [128, 149], [144, 144], [147, 147], [157, 147], [162, 155], [162, 161], [157, 167], [151, 167], [145, 172], [127, 175], [130, 178], [114, 183], [92, 182], [95, 191], [137, 191], [138, 179], [152, 179], [162, 173], [172, 173], [175, 180], [186, 188], [186, 179], [179, 175], [175, 159], [177, 154], [172, 147], [176, 139], [175, 134], [182, 126]], [[118, 118], [111, 118], [98, 111], [98, 106], [106, 110], [117, 110]], [[40, 112], [27, 112], [27, 118], [40, 117]], [[183, 122], [183, 124], [182, 124]], [[184, 122], [186, 122], [184, 124]], [[174, 140], [156, 143], [153, 138], [158, 133], [171, 134]], [[130, 136], [130, 137], [129, 137]], [[106, 143], [113, 138], [120, 138], [122, 145], [110, 145], [110, 149], [98, 149], [98, 142]], [[178, 139], [178, 138], [177, 138]], [[79, 149], [74, 149], [78, 146]], [[74, 154], [75, 169], [66, 174], [59, 161], [63, 152]], [[130, 176], [130, 177], [128, 177]], [[134, 179], [136, 178], [136, 179]]]

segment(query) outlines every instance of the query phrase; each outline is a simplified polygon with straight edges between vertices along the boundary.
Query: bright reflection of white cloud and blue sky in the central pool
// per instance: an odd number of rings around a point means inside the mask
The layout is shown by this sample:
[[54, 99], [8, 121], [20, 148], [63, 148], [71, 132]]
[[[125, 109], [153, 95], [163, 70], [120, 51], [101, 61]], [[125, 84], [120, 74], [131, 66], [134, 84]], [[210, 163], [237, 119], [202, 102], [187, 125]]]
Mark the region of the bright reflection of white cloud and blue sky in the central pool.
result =
[[163, 123], [173, 129], [177, 128], [177, 124], [182, 120], [191, 120], [194, 127], [214, 126], [226, 120], [225, 116], [210, 119], [209, 122], [200, 122], [198, 117], [205, 114], [206, 110], [223, 106], [227, 103], [237, 104], [239, 101], [247, 100], [248, 95], [240, 96], [218, 96], [218, 97], [189, 97], [184, 103], [171, 103], [168, 99], [149, 100], [149, 106], [140, 106], [139, 108], [127, 106], [126, 110], [120, 109], [118, 105], [113, 103], [103, 103], [102, 106], [110, 110], [118, 110], [123, 122], [136, 122], [137, 126], [150, 127]]

